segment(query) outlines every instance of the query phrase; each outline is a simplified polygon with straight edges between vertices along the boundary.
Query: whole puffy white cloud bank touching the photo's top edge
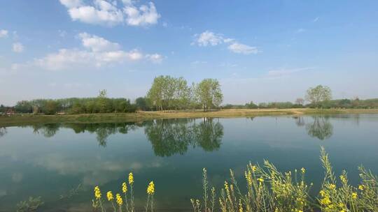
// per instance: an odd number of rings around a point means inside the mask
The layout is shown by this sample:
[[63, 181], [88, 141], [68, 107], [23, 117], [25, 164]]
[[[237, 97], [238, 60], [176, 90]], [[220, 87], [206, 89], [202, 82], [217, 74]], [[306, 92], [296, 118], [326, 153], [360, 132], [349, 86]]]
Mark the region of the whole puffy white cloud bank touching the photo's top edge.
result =
[[123, 0], [123, 7], [118, 7], [117, 1], [110, 3], [104, 0], [92, 0], [91, 2], [88, 4], [81, 0], [60, 0], [60, 3], [68, 9], [72, 20], [87, 24], [145, 26], [158, 23], [160, 18], [152, 2], [139, 8], [134, 6], [134, 1], [131, 0]]

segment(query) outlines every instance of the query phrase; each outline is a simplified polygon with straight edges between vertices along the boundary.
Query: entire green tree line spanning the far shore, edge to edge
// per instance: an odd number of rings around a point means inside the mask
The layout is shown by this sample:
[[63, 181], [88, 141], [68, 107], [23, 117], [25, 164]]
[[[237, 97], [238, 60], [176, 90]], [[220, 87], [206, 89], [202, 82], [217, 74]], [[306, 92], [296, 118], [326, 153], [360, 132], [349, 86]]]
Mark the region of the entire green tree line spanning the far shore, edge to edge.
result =
[[[328, 86], [318, 85], [309, 88], [304, 98], [291, 102], [272, 102], [245, 105], [221, 105], [223, 93], [217, 79], [203, 79], [188, 84], [183, 77], [158, 76], [153, 79], [146, 96], [137, 98], [134, 103], [128, 98], [109, 98], [106, 90], [99, 91], [94, 98], [62, 98], [57, 100], [22, 100], [13, 107], [0, 105], [0, 114], [8, 111], [33, 114], [95, 114], [136, 112], [137, 110], [173, 109], [264, 109], [264, 108], [378, 108], [378, 98], [360, 100], [359, 98], [331, 100], [332, 91]], [[307, 102], [307, 104], [305, 104]]]

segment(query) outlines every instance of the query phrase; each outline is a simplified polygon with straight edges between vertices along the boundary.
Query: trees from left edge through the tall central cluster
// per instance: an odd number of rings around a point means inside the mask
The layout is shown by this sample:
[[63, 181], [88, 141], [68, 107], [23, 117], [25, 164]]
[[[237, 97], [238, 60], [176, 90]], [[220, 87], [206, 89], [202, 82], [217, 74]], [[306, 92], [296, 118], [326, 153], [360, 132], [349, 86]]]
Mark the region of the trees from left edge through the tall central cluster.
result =
[[139, 110], [204, 109], [217, 108], [223, 101], [221, 84], [217, 79], [204, 79], [188, 85], [183, 77], [155, 77], [145, 97], [134, 103], [128, 98], [109, 98], [106, 90], [99, 91], [95, 98], [62, 98], [22, 100], [14, 107], [0, 106], [0, 113], [15, 110], [32, 114], [96, 114], [136, 112]]

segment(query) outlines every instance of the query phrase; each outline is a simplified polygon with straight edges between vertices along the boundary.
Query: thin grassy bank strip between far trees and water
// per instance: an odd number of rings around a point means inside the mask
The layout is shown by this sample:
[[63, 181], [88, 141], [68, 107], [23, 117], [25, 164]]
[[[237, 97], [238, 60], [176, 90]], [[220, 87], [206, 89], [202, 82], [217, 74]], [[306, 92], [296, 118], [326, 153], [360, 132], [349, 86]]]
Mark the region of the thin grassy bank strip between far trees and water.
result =
[[15, 115], [0, 116], [0, 126], [19, 126], [34, 123], [104, 123], [104, 122], [138, 122], [151, 119], [176, 118], [232, 118], [276, 115], [302, 114], [378, 114], [378, 109], [222, 109], [219, 111], [166, 111], [166, 112], [137, 112], [113, 114], [66, 114], [66, 115]]

